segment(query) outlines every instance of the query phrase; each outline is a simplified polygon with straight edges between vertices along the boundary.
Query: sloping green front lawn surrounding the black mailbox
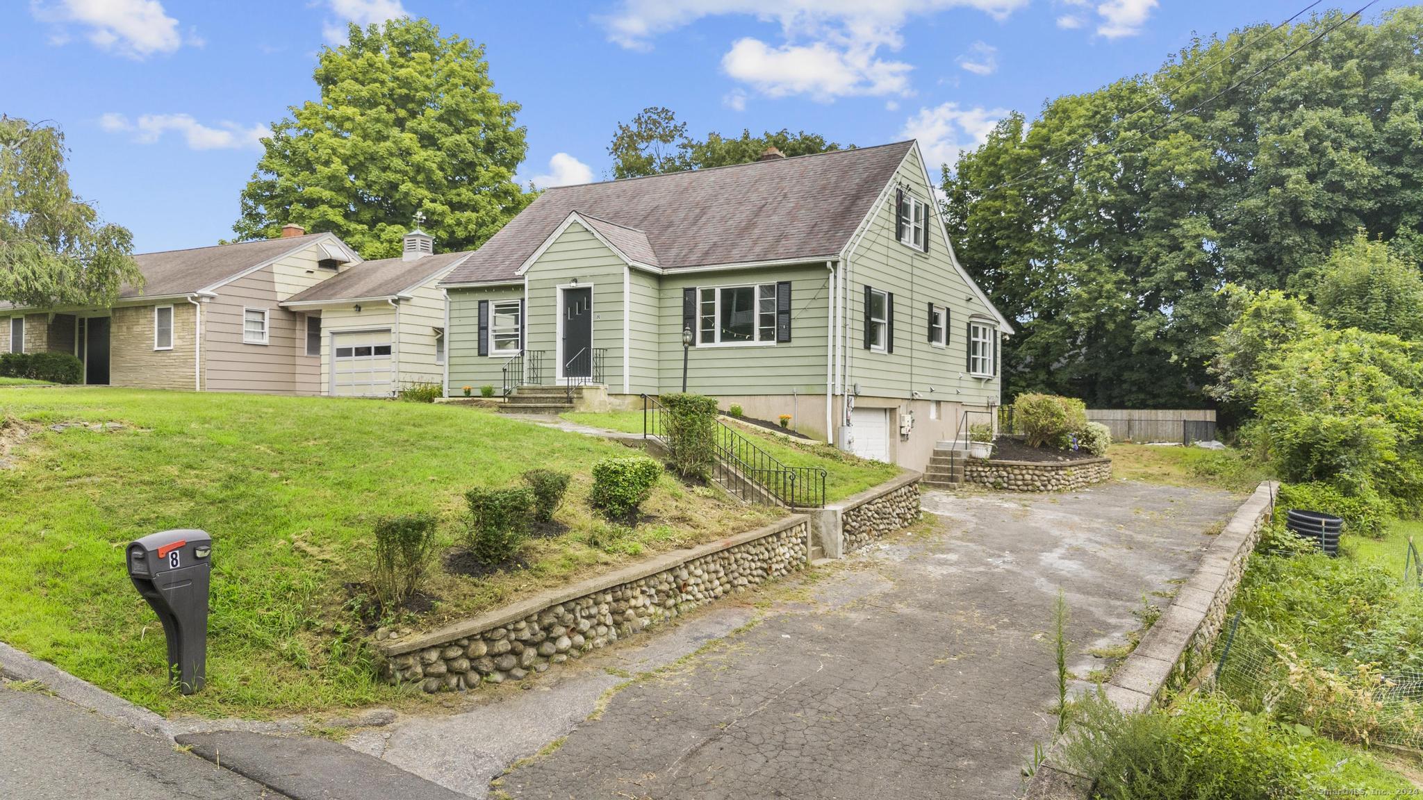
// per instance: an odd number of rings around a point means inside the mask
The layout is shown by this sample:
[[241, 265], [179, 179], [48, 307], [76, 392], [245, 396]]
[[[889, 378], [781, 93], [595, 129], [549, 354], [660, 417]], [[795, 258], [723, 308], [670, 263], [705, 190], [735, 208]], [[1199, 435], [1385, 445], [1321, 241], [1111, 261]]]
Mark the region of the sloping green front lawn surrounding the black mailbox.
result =
[[[593, 461], [629, 448], [468, 407], [58, 387], [0, 389], [0, 641], [165, 713], [262, 716], [398, 702], [371, 679], [347, 582], [367, 579], [371, 522], [433, 511], [455, 544], [462, 491], [534, 467], [573, 473], [527, 571], [434, 568], [434, 625], [649, 551], [713, 541], [776, 511], [665, 477], [649, 521], [609, 531], [586, 507]], [[120, 421], [107, 433], [61, 421]], [[124, 572], [124, 545], [166, 528], [213, 537], [208, 688], [166, 686], [162, 629]], [[411, 700], [421, 702], [421, 700]]]

